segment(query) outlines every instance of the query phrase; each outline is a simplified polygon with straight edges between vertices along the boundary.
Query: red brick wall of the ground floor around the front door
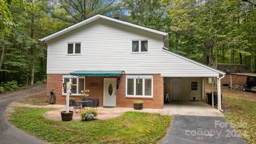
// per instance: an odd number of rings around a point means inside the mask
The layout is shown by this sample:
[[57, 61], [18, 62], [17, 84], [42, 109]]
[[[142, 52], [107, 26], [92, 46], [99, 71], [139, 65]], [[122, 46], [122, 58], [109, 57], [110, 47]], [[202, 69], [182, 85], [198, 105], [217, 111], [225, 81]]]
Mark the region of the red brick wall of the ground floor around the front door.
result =
[[[90, 90], [89, 98], [98, 98], [99, 106], [103, 106], [103, 83], [105, 77], [85, 77], [85, 89]], [[108, 77], [110, 78], [110, 77]], [[113, 77], [117, 78], [117, 77]], [[143, 108], [163, 108], [163, 83], [164, 79], [159, 74], [153, 76], [153, 98], [127, 98], [125, 97], [125, 74], [121, 75], [119, 89], [117, 89], [117, 107], [133, 107], [133, 101], [143, 101]], [[62, 95], [62, 74], [47, 74], [47, 93], [54, 90], [56, 104], [65, 105], [66, 97]], [[71, 95], [72, 99], [80, 100], [81, 96]]]

